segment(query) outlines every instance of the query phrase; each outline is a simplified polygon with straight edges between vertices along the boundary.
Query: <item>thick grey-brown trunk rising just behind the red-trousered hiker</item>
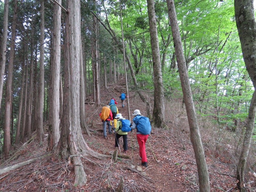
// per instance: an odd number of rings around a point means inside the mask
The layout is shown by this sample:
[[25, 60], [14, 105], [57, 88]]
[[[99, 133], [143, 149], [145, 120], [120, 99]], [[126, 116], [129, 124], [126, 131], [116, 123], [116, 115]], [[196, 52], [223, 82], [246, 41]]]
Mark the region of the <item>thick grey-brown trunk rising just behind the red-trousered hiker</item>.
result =
[[154, 109], [153, 109], [153, 124], [156, 127], [164, 128], [164, 87], [161, 71], [161, 60], [156, 27], [156, 13], [154, 0], [147, 0], [148, 3], [148, 20], [150, 43], [152, 50], [152, 61], [154, 70]]

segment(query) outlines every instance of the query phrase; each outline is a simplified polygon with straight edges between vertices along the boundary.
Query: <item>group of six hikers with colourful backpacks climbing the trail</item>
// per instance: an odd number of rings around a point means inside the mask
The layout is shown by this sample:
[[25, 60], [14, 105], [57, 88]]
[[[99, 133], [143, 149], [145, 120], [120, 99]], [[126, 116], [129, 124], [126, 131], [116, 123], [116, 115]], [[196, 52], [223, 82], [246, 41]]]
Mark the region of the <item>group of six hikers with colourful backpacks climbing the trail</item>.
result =
[[[128, 96], [126, 96], [124, 92], [122, 92], [119, 97], [122, 101], [123, 108], [124, 108], [124, 100], [127, 97]], [[149, 119], [148, 117], [141, 116], [140, 110], [136, 109], [132, 114], [132, 116], [134, 117], [132, 119], [132, 124], [131, 124], [131, 122], [128, 119], [125, 119], [121, 113], [118, 113], [118, 108], [116, 107], [116, 104], [117, 104], [116, 100], [112, 97], [109, 102], [109, 105], [107, 105], [106, 107], [102, 107], [101, 109], [100, 118], [103, 126], [103, 137], [107, 138], [107, 124], [108, 124], [108, 134], [112, 134], [112, 132], [114, 132], [115, 134], [115, 147], [119, 148], [119, 138], [123, 137], [123, 141], [124, 141], [123, 152], [126, 153], [128, 150], [128, 142], [127, 142], [128, 132], [129, 131], [132, 132], [132, 130], [136, 129], [136, 133], [137, 133], [136, 136], [139, 144], [141, 164], [142, 166], [147, 167], [148, 160], [146, 155], [145, 144], [148, 139], [148, 134], [151, 131], [151, 125], [150, 125]]]

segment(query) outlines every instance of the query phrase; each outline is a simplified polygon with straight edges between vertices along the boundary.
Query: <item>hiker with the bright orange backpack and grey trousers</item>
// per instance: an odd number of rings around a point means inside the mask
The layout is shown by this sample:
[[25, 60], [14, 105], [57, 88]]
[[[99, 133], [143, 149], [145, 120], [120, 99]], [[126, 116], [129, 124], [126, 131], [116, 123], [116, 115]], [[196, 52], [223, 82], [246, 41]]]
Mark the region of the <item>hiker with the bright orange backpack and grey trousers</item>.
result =
[[103, 135], [104, 135], [104, 138], [107, 139], [107, 131], [106, 131], [107, 124], [108, 124], [108, 133], [111, 134], [112, 131], [111, 131], [110, 120], [113, 120], [112, 112], [108, 105], [101, 109], [100, 118], [102, 121]]

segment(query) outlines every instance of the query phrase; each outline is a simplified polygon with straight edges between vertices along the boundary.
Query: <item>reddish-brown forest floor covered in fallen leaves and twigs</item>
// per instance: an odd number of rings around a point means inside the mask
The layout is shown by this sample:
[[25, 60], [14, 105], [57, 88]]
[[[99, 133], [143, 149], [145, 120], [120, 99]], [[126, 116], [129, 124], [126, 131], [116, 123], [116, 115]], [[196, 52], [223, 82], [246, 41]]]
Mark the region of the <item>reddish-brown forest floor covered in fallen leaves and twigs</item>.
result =
[[[125, 92], [124, 80], [108, 85], [108, 90], [101, 89], [102, 106], [106, 106], [114, 97], [118, 102], [119, 113], [128, 119], [127, 102], [124, 108], [121, 107], [119, 99], [121, 92]], [[87, 99], [92, 100], [92, 96]], [[135, 109], [140, 109], [142, 115], [146, 114], [145, 104], [134, 92], [129, 92], [129, 103], [131, 114]], [[85, 133], [83, 136], [90, 148], [108, 155], [115, 150], [115, 135], [108, 134], [107, 139], [103, 138], [102, 123], [99, 118], [101, 107], [96, 108], [93, 104], [85, 105], [86, 122], [95, 132], [91, 137]], [[12, 166], [47, 154], [46, 135], [43, 143], [31, 141], [19, 152], [18, 158], [0, 165], [0, 173], [2, 173], [0, 191], [115, 191], [121, 177], [124, 179], [123, 191], [198, 191], [198, 174], [192, 144], [189, 137], [182, 137], [179, 131], [182, 127], [180, 129], [176, 127], [174, 125], [168, 129], [152, 127], [152, 133], [148, 137], [149, 142], [146, 144], [148, 167], [141, 166], [135, 131], [128, 134], [128, 151], [125, 155], [130, 156], [130, 159], [119, 157], [115, 163], [111, 158], [106, 160], [82, 158], [87, 174], [87, 184], [82, 187], [74, 186], [74, 166], [69, 160], [44, 157], [12, 171], [1, 172], [7, 165]], [[120, 138], [121, 154], [124, 155], [122, 146], [123, 140]], [[13, 149], [12, 154], [14, 153]], [[229, 157], [218, 154], [213, 158], [211, 152], [205, 152], [205, 158], [211, 191], [227, 191], [236, 186], [234, 164], [229, 161]], [[253, 184], [255, 185], [255, 182]]]

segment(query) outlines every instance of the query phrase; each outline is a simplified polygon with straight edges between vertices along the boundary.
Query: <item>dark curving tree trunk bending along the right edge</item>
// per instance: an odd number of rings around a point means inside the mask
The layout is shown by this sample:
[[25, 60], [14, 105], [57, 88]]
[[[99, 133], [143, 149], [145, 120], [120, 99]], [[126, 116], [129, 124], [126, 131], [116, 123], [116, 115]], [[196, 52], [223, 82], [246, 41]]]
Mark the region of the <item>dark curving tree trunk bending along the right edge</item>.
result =
[[[252, 80], [254, 90], [256, 88], [256, 22], [253, 9], [253, 0], [235, 0], [235, 17], [238, 36], [241, 43], [244, 63]], [[237, 188], [239, 191], [246, 191], [244, 188], [244, 170], [248, 152], [251, 146], [252, 132], [256, 114], [256, 92], [253, 92], [248, 112], [244, 141], [236, 168]]]

